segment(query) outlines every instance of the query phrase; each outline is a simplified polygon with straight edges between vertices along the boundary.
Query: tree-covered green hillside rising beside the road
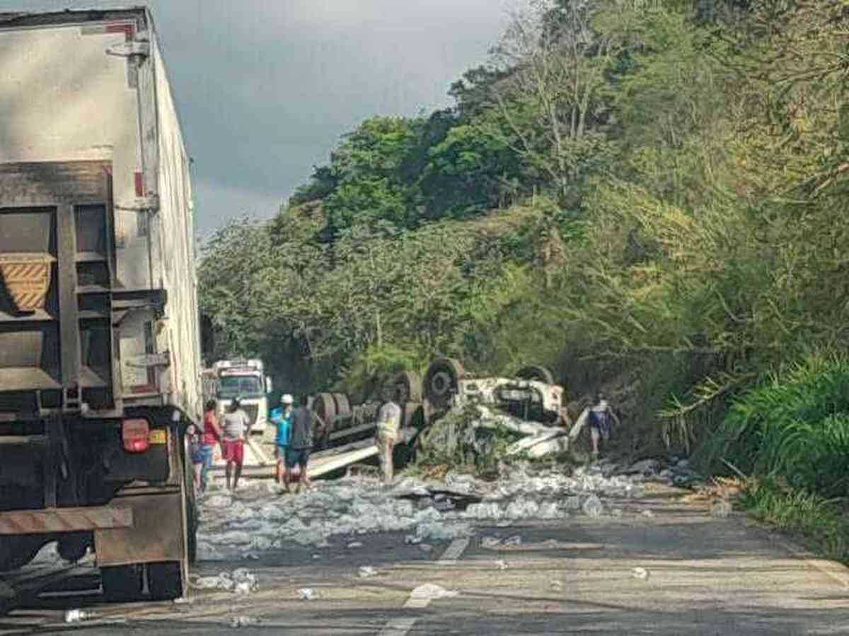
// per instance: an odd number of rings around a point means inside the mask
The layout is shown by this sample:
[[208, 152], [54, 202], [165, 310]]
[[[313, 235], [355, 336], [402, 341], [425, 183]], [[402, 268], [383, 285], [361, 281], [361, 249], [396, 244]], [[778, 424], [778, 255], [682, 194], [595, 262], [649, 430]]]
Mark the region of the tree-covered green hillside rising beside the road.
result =
[[695, 450], [838, 536], [847, 27], [839, 0], [531, 0], [452, 108], [363, 121], [205, 246], [220, 353], [352, 394], [436, 355], [548, 365], [613, 389], [627, 450]]

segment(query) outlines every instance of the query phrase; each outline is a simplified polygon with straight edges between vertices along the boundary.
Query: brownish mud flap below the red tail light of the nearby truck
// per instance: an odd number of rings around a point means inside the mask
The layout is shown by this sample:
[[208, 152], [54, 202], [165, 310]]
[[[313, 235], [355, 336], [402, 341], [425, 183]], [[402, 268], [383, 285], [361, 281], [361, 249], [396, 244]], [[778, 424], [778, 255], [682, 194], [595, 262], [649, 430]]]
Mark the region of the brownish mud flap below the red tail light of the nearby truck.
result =
[[132, 527], [94, 531], [98, 566], [183, 561], [184, 503], [179, 492], [119, 497], [115, 508], [132, 510]]

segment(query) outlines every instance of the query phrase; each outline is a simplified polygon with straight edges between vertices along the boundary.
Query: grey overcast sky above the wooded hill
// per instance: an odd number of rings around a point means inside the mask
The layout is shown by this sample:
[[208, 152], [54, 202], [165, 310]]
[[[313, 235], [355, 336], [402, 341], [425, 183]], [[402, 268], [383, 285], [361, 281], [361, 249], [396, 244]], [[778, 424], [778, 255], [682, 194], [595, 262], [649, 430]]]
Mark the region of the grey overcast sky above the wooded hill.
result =
[[[143, 0], [0, 0], [3, 10]], [[511, 0], [149, 0], [194, 158], [200, 237], [273, 215], [371, 114], [447, 106]]]

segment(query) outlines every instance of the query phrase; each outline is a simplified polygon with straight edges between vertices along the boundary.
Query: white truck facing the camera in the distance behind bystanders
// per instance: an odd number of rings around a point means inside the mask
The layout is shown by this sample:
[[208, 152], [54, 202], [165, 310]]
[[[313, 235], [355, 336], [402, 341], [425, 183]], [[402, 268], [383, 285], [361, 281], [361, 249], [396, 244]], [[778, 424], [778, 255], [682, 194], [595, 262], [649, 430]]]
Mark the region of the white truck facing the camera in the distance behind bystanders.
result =
[[250, 432], [264, 432], [268, 425], [268, 393], [272, 391], [272, 382], [265, 374], [262, 360], [219, 360], [212, 369], [220, 412], [227, 410], [233, 399], [241, 398], [241, 408], [250, 421]]

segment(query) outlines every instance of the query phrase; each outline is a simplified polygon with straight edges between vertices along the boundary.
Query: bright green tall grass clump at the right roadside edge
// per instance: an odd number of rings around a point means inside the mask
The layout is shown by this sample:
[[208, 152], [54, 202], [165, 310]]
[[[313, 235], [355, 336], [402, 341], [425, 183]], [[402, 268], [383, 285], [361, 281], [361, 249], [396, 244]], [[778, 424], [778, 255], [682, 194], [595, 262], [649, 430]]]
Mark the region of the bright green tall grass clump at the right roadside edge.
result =
[[842, 497], [849, 484], [849, 360], [813, 355], [734, 402], [704, 457], [792, 488]]

